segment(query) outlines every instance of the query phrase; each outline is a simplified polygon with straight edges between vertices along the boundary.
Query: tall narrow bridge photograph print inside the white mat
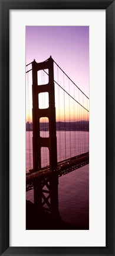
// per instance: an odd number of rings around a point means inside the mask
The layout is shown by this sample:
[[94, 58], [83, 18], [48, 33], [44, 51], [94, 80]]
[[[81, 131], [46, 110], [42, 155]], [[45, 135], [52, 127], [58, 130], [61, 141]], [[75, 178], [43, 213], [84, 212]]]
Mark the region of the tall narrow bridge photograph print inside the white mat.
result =
[[26, 26], [26, 45], [26, 229], [88, 230], [89, 27]]

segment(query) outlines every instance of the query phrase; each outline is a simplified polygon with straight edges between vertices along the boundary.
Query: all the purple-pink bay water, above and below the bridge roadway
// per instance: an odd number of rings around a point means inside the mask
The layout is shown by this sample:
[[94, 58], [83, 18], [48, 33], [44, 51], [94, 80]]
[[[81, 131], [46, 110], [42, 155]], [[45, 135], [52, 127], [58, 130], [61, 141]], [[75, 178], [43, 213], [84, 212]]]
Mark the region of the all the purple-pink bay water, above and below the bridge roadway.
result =
[[[28, 137], [29, 133], [29, 137]], [[77, 138], [78, 132], [76, 131], [76, 135], [71, 131], [71, 138], [73, 143], [71, 143], [71, 156], [74, 155], [74, 151], [80, 151], [83, 153], [84, 151], [88, 151], [88, 132], [81, 132], [81, 145], [79, 143], [80, 148], [78, 148], [78, 144], [74, 147], [74, 137]], [[31, 159], [29, 157], [28, 160], [28, 142], [32, 143], [32, 132], [26, 132], [27, 135], [27, 150], [26, 150], [26, 159], [27, 159], [27, 171], [29, 169], [29, 164], [32, 162], [32, 144], [31, 144]], [[57, 148], [60, 148], [59, 143], [59, 134], [57, 132]], [[66, 132], [66, 137], [68, 139], [68, 145], [70, 141], [70, 132]], [[86, 141], [86, 145], [84, 146], [83, 141]], [[29, 140], [28, 140], [29, 138]], [[61, 160], [63, 160], [65, 156], [64, 150], [64, 131], [61, 132]], [[67, 152], [66, 152], [67, 153]], [[42, 152], [42, 156], [44, 153]], [[68, 153], [67, 153], [68, 156]], [[68, 156], [70, 157], [70, 156]], [[58, 150], [58, 159], [60, 159], [60, 153]], [[45, 165], [46, 159], [44, 161]], [[47, 157], [48, 162], [48, 157]], [[32, 163], [31, 163], [32, 165]], [[83, 166], [77, 170], [74, 170], [67, 175], [61, 176], [59, 178], [58, 184], [58, 201], [59, 201], [59, 211], [62, 219], [72, 225], [77, 226], [80, 229], [87, 229], [88, 227], [88, 219], [89, 219], [89, 165]], [[27, 192], [27, 200], [33, 201], [33, 190]]]

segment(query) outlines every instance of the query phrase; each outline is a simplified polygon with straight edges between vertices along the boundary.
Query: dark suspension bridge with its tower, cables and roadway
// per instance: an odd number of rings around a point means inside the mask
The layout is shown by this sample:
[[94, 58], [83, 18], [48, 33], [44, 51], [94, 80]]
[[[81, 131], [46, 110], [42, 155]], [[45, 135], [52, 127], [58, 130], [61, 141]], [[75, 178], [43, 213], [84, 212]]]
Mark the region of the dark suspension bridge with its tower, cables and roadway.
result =
[[58, 178], [89, 163], [89, 98], [51, 56], [26, 68], [26, 191], [59, 216]]

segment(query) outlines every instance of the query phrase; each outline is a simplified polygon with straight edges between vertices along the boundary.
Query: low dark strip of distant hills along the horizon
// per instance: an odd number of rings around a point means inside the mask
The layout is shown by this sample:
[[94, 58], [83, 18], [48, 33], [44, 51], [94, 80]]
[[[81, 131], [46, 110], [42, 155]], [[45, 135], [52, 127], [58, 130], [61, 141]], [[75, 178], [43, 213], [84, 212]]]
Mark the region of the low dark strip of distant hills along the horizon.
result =
[[[56, 122], [57, 131], [89, 131], [89, 121]], [[40, 123], [40, 131], [48, 131], [48, 122]], [[32, 123], [26, 123], [26, 131], [32, 131]]]

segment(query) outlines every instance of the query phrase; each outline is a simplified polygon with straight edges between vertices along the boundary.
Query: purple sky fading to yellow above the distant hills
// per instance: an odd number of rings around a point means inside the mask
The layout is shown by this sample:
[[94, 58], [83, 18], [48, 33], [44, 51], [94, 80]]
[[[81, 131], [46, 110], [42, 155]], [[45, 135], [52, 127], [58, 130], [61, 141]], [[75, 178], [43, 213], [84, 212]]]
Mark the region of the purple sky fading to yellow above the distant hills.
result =
[[[34, 59], [36, 62], [42, 62], [50, 58], [64, 70], [64, 72], [74, 81], [74, 83], [89, 96], [89, 27], [83, 26], [27, 26], [26, 27], [26, 64]], [[28, 68], [31, 68], [30, 66]], [[54, 68], [54, 80], [55, 72]], [[57, 74], [56, 74], [57, 75]], [[29, 86], [31, 88], [31, 77], [29, 77]], [[60, 78], [60, 85], [63, 84], [63, 78]], [[65, 83], [68, 87], [68, 80]], [[67, 88], [65, 88], [66, 90]], [[55, 105], [58, 119], [58, 89], [55, 88]], [[31, 91], [31, 89], [30, 89]], [[70, 94], [73, 94], [73, 84], [70, 84]], [[78, 93], [75, 95], [76, 99]], [[81, 95], [81, 104], [83, 103]], [[63, 93], [61, 91], [60, 102], [63, 102]], [[47, 102], [47, 99], [45, 99]], [[69, 118], [68, 98], [65, 98], [65, 109], [67, 119]], [[32, 102], [29, 100], [29, 114], [27, 110], [27, 119], [31, 119]], [[71, 103], [71, 116], [73, 103]], [[87, 108], [87, 102], [85, 103]], [[27, 103], [28, 105], [28, 103]], [[77, 108], [77, 106], [76, 106]], [[27, 106], [28, 109], [28, 106]], [[64, 119], [64, 106], [61, 106], [61, 116]], [[28, 118], [28, 116], [30, 118]], [[80, 118], [84, 119], [80, 114]], [[71, 117], [71, 120], [73, 118]]]

